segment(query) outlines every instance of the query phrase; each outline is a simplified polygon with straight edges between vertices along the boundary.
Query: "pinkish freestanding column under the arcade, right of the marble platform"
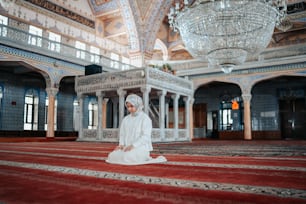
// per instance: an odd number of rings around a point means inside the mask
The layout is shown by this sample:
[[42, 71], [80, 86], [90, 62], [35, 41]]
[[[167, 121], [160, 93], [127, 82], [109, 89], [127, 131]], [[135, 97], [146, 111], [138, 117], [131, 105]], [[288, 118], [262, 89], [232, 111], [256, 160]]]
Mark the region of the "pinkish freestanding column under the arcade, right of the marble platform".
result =
[[252, 139], [252, 126], [251, 126], [251, 94], [242, 94], [244, 106], [244, 139]]

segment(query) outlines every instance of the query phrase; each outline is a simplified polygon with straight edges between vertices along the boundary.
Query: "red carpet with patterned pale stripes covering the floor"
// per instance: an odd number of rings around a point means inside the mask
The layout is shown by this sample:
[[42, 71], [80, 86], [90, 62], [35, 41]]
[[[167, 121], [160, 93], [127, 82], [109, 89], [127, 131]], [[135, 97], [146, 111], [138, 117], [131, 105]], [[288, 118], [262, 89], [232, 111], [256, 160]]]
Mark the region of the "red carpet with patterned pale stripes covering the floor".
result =
[[0, 203], [306, 203], [306, 141], [155, 144], [169, 161], [141, 166], [105, 163], [114, 145], [0, 143]]

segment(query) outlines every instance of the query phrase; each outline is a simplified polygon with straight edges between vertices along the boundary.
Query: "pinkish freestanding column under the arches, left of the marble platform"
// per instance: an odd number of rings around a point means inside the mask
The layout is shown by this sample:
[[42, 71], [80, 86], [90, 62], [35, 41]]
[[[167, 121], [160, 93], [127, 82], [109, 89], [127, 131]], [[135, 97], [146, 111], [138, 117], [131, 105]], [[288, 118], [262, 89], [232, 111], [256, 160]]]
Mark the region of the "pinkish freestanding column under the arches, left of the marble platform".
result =
[[47, 135], [49, 139], [54, 138], [54, 113], [55, 113], [55, 98], [58, 93], [58, 88], [46, 88], [48, 94], [48, 115], [47, 115]]

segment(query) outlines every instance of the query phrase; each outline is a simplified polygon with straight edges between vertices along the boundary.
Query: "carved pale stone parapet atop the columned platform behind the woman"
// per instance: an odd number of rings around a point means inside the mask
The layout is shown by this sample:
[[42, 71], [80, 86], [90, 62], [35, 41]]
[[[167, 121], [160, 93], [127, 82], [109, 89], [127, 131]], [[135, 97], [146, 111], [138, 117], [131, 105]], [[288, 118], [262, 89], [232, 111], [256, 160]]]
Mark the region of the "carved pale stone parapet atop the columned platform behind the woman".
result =
[[75, 80], [75, 90], [81, 94], [117, 90], [119, 88], [128, 89], [143, 85], [185, 95], [193, 94], [193, 83], [191, 81], [154, 68], [79, 76]]

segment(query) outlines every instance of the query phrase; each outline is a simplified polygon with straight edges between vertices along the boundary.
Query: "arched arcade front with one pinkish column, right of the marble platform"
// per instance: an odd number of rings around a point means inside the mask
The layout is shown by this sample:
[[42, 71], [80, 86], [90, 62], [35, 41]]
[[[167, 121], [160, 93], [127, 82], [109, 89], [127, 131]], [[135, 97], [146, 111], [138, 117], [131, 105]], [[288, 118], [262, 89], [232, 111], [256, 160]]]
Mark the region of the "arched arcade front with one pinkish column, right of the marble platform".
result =
[[241, 89], [241, 98], [243, 100], [243, 118], [244, 118], [244, 139], [252, 140], [252, 124], [251, 124], [251, 99], [252, 88], [259, 82], [273, 79], [280, 76], [306, 76], [306, 62], [304, 57], [287, 60], [283, 64], [267, 63], [264, 66], [253, 64], [252, 68], [236, 70], [230, 75], [224, 73], [211, 73], [209, 76], [198, 74], [191, 80], [194, 83], [194, 90], [203, 84], [219, 81], [230, 84], [236, 84]]

